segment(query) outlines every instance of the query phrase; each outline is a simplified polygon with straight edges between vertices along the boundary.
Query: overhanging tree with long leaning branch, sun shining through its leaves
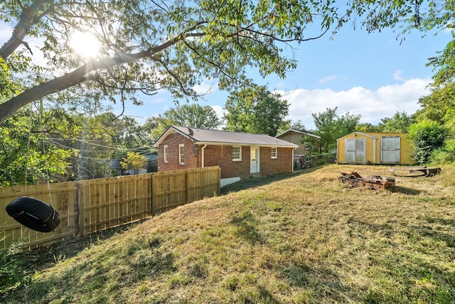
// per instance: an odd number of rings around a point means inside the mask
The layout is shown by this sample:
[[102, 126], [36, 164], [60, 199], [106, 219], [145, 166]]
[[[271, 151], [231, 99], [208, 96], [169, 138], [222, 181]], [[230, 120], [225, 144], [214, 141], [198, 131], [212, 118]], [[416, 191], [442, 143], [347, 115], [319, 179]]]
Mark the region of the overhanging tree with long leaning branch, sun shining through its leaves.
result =
[[[207, 78], [230, 89], [251, 82], [252, 67], [284, 77], [296, 67], [285, 46], [319, 38], [345, 17], [332, 1], [5, 0], [0, 20], [13, 31], [0, 47], [0, 123], [51, 94], [141, 104], [137, 92], [160, 89], [196, 98], [193, 87]], [[307, 31], [311, 23], [319, 26]], [[77, 53], [80, 32], [100, 44], [96, 55]], [[32, 39], [47, 65], [34, 61]], [[97, 44], [88, 40], [85, 50]]]

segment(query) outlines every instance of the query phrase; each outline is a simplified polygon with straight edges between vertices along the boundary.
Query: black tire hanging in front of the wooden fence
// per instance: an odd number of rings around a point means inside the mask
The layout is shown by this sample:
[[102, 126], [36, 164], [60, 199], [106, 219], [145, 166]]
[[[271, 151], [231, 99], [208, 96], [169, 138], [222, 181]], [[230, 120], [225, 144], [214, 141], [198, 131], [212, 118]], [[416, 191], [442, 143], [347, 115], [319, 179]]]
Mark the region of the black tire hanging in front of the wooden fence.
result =
[[33, 197], [23, 196], [6, 205], [6, 212], [23, 226], [38, 232], [51, 232], [60, 224], [60, 215], [50, 205]]

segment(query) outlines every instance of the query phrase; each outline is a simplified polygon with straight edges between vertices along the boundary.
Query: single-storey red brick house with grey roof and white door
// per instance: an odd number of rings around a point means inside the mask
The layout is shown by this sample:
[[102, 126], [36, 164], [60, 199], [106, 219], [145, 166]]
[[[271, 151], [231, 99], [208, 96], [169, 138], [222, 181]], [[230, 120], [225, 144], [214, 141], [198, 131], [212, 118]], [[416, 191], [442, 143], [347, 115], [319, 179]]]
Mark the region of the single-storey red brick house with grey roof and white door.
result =
[[292, 172], [297, 145], [264, 134], [170, 126], [156, 141], [158, 171], [219, 165], [222, 185]]

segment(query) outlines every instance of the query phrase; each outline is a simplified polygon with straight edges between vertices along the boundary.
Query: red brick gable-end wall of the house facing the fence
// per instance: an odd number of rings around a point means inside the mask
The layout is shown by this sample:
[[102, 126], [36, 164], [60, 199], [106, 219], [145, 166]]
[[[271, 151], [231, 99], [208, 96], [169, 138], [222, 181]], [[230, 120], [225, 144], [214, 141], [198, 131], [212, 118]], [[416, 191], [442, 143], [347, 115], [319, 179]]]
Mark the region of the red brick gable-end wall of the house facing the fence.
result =
[[[183, 153], [185, 154], [184, 164], [178, 161], [178, 145], [183, 143]], [[163, 150], [168, 146], [168, 163], [164, 163]], [[198, 168], [198, 146], [193, 141], [180, 134], [169, 134], [158, 147], [158, 172], [169, 170], [181, 170], [188, 168]]]

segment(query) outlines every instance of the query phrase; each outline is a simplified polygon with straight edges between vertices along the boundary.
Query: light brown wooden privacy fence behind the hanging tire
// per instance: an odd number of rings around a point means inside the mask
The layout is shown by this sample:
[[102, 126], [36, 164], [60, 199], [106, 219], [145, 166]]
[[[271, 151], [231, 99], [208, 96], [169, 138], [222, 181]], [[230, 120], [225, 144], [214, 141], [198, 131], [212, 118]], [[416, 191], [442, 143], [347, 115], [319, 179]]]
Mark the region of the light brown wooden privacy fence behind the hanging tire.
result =
[[[0, 188], [0, 247], [50, 244], [69, 236], [135, 222], [188, 202], [220, 194], [220, 168], [193, 168], [68, 183]], [[23, 195], [51, 203], [61, 222], [53, 232], [23, 227], [6, 213], [6, 205]]]

